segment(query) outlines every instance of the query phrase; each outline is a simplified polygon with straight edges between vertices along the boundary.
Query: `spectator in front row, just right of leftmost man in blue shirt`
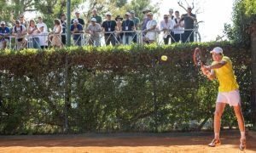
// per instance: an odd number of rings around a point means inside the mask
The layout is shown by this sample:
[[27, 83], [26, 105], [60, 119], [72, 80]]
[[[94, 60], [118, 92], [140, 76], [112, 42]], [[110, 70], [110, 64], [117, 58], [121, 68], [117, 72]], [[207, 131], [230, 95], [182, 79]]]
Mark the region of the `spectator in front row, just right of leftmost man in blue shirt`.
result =
[[26, 27], [20, 25], [20, 20], [15, 20], [12, 35], [15, 37], [15, 48], [20, 50], [26, 47]]

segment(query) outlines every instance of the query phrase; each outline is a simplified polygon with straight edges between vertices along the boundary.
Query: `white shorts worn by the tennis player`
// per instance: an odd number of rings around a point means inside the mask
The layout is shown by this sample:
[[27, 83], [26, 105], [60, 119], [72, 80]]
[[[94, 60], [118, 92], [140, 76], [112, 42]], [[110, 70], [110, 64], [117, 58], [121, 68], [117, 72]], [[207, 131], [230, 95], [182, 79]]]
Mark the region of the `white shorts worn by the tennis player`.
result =
[[229, 104], [230, 106], [241, 105], [239, 90], [236, 89], [230, 92], [219, 92], [216, 102]]

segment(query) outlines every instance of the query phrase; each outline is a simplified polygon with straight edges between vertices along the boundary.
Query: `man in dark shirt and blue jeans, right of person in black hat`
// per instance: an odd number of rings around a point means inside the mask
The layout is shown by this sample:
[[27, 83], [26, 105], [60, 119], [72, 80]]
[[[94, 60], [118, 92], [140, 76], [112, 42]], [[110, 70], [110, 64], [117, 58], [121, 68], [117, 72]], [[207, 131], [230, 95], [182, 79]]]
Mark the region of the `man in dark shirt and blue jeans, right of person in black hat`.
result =
[[132, 36], [134, 33], [131, 31], [135, 30], [134, 22], [130, 18], [131, 18], [131, 14], [129, 12], [126, 12], [125, 20], [122, 23], [122, 31], [125, 31], [123, 35], [123, 44], [131, 44]]

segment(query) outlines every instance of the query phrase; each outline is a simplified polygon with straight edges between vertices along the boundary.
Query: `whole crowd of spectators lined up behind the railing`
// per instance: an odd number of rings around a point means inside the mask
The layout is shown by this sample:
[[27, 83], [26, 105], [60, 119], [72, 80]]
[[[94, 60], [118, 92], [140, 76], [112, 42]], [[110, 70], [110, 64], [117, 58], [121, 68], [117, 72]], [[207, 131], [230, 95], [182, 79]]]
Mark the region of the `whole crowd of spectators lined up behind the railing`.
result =
[[[70, 31], [73, 36], [73, 45], [82, 46], [84, 34], [89, 35], [88, 44], [101, 46], [101, 35], [104, 36], [106, 45], [131, 44], [138, 42], [137, 31], [142, 32], [143, 42], [155, 42], [157, 36], [162, 32], [163, 42], [194, 42], [195, 14], [192, 8], [188, 7], [187, 14], [180, 16], [178, 11], [173, 15], [173, 9], [169, 9], [169, 14], [163, 15], [160, 23], [154, 19], [154, 13], [149, 8], [143, 10], [142, 21], [137, 18], [134, 10], [125, 13], [124, 18], [117, 15], [115, 18], [108, 12], [105, 20], [98, 14], [96, 9], [92, 10], [90, 23], [85, 27], [84, 20], [79, 12], [75, 12], [75, 18], [71, 20]], [[24, 14], [20, 14], [19, 19], [14, 20], [14, 15], [10, 15], [12, 28], [6, 26], [5, 21], [1, 21], [0, 27], [0, 49], [7, 48], [11, 37], [15, 37], [15, 48], [62, 48], [66, 44], [67, 16], [61, 14], [61, 19], [54, 20], [53, 30], [50, 31], [44, 23], [43, 17], [38, 20], [26, 22]]]

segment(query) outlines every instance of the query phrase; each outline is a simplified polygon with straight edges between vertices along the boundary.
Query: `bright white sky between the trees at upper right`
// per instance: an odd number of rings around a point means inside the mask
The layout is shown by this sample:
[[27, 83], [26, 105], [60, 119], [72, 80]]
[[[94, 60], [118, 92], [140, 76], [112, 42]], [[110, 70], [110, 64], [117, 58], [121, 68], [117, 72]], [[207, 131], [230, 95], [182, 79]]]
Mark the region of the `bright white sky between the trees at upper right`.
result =
[[[178, 6], [177, 0], [152, 0], [153, 3], [160, 2], [160, 18], [163, 14], [168, 14], [169, 8], [173, 8], [174, 11], [178, 10], [180, 14], [185, 14], [185, 10]], [[184, 0], [182, 0], [184, 6], [188, 6]], [[189, 5], [192, 0], [187, 0]], [[199, 32], [201, 34], [201, 41], [208, 42], [214, 41], [216, 37], [223, 36], [224, 23], [231, 24], [231, 13], [233, 3], [235, 0], [194, 0], [195, 9], [200, 7], [200, 14], [197, 14], [197, 20], [204, 21], [199, 25]], [[192, 13], [195, 13], [195, 9]]]

